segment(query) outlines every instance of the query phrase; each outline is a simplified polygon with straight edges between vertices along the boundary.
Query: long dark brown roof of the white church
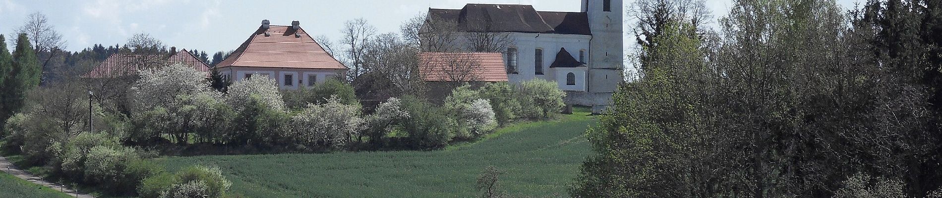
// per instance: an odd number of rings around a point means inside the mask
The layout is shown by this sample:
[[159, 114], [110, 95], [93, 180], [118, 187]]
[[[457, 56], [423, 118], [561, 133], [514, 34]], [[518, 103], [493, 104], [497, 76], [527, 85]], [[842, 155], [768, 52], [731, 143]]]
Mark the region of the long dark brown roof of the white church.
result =
[[468, 4], [461, 9], [429, 8], [429, 20], [436, 26], [461, 32], [592, 35], [585, 12], [537, 11], [530, 5]]

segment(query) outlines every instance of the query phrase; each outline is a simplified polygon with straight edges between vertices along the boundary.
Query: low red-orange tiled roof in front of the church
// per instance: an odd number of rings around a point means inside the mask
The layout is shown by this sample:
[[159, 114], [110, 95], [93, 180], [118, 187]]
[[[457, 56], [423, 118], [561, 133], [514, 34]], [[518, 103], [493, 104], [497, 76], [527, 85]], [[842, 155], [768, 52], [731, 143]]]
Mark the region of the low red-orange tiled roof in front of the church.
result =
[[501, 53], [418, 53], [418, 58], [425, 81], [507, 82]]

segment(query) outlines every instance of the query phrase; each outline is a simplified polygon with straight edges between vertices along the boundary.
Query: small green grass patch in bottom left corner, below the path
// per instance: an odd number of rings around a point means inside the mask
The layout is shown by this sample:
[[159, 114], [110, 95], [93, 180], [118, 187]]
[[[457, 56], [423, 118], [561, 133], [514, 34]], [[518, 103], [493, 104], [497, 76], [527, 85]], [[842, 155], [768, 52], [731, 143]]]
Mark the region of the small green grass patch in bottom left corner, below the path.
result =
[[71, 197], [57, 190], [43, 187], [13, 175], [0, 172], [0, 197]]

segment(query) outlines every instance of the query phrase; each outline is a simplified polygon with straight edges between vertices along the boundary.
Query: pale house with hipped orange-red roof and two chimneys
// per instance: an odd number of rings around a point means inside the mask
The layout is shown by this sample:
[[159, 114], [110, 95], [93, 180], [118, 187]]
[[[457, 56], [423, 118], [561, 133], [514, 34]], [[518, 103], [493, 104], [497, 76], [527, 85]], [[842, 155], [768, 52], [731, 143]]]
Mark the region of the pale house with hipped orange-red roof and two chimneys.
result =
[[343, 78], [348, 68], [311, 38], [300, 22], [270, 25], [255, 30], [232, 55], [219, 62], [219, 73], [237, 82], [264, 76], [282, 89], [313, 86], [331, 78]]

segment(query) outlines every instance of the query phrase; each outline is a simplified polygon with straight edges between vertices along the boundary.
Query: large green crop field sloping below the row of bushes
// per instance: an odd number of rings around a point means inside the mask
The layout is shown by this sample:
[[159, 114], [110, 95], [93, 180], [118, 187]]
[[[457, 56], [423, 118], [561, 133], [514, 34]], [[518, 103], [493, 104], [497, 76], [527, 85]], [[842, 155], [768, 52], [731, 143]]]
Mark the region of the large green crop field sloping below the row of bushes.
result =
[[590, 154], [582, 133], [588, 113], [559, 121], [516, 124], [478, 143], [436, 151], [337, 152], [158, 159], [177, 170], [216, 165], [248, 197], [475, 197], [475, 180], [489, 165], [506, 172], [514, 196], [565, 195]]

